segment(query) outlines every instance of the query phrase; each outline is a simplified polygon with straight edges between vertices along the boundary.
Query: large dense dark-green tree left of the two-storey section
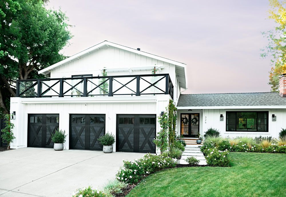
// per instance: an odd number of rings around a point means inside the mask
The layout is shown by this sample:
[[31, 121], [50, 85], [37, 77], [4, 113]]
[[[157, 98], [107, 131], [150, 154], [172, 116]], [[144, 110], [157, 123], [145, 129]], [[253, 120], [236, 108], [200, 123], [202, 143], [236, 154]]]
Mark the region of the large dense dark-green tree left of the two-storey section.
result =
[[0, 110], [9, 113], [15, 80], [38, 78], [37, 71], [65, 57], [72, 35], [61, 10], [42, 0], [0, 0]]

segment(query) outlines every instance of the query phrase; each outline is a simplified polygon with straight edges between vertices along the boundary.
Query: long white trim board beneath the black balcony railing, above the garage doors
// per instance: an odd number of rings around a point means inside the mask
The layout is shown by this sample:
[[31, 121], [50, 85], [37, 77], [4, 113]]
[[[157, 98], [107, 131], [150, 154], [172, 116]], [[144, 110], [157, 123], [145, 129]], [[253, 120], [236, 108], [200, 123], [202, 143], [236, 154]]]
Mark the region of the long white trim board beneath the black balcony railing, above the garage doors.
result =
[[[158, 96], [99, 96], [99, 97], [44, 97], [21, 98], [21, 103], [138, 103], [157, 102]], [[160, 96], [159, 96], [160, 97]]]

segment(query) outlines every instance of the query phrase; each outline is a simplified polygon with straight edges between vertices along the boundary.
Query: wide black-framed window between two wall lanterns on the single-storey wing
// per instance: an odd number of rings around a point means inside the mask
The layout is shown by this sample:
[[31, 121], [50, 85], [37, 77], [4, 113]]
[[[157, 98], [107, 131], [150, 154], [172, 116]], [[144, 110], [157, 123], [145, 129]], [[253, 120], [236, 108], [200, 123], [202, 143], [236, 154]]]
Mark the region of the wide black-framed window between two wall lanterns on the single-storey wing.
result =
[[269, 112], [226, 112], [226, 131], [268, 132]]

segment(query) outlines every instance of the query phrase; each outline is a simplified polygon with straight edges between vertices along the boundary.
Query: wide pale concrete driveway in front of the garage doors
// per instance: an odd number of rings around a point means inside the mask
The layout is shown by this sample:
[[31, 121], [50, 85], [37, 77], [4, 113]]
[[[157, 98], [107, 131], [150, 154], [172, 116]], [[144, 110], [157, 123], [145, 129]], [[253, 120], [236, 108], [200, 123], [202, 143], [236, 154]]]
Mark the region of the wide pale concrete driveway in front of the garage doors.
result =
[[71, 197], [77, 188], [103, 189], [122, 166], [142, 153], [20, 148], [0, 152], [0, 197]]

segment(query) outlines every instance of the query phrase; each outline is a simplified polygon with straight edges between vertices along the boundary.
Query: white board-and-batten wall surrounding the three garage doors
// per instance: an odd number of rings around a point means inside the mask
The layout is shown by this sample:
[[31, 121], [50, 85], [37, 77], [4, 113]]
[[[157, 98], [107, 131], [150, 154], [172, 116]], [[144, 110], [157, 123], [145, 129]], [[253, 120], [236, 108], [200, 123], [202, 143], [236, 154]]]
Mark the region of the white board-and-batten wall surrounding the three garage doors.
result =
[[[14, 135], [16, 139], [12, 143], [12, 148], [27, 147], [28, 134], [28, 114], [59, 114], [59, 129], [65, 130], [67, 140], [65, 147], [69, 148], [69, 117], [70, 114], [105, 114], [106, 132], [116, 136], [116, 116], [118, 114], [156, 114], [168, 105], [170, 96], [149, 96], [136, 97], [137, 100], [128, 100], [126, 97], [106, 97], [94, 100], [94, 97], [76, 97], [70, 98], [74, 102], [63, 98], [11, 98], [11, 109], [17, 111], [15, 120]], [[156, 130], [160, 130], [157, 123]], [[116, 150], [114, 144], [113, 150]]]

